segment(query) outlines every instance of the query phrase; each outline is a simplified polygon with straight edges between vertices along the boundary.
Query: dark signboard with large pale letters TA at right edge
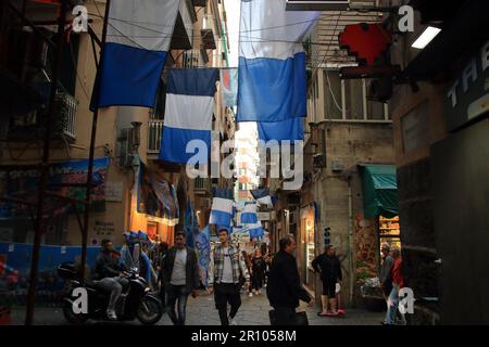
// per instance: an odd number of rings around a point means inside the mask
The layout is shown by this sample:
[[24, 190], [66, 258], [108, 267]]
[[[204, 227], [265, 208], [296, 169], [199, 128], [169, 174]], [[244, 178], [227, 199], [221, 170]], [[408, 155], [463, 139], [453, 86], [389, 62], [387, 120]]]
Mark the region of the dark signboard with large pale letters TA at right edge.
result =
[[489, 41], [466, 63], [447, 90], [449, 131], [475, 121], [489, 112]]

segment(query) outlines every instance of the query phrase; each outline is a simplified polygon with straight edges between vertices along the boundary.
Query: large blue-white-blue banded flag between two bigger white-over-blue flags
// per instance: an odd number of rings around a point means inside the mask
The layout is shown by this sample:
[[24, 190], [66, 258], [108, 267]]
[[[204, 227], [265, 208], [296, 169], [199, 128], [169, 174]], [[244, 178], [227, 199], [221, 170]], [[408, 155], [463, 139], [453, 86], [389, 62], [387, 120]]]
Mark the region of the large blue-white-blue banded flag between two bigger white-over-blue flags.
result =
[[210, 152], [216, 75], [212, 68], [168, 70], [161, 160], [186, 164], [195, 155], [187, 153], [192, 140], [203, 141]]

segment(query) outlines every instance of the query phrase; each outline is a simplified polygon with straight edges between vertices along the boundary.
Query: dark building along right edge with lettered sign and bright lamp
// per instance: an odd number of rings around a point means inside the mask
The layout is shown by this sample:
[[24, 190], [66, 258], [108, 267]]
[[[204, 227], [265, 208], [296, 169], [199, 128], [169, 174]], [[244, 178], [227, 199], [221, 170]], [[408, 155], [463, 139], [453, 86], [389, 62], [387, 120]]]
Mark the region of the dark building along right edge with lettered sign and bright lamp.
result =
[[[400, 1], [390, 1], [399, 5]], [[390, 50], [402, 257], [413, 324], [488, 322], [488, 4], [411, 1], [414, 31]], [[389, 23], [389, 17], [386, 17]], [[428, 28], [441, 29], [423, 47]], [[477, 283], [477, 284], [476, 284]]]

